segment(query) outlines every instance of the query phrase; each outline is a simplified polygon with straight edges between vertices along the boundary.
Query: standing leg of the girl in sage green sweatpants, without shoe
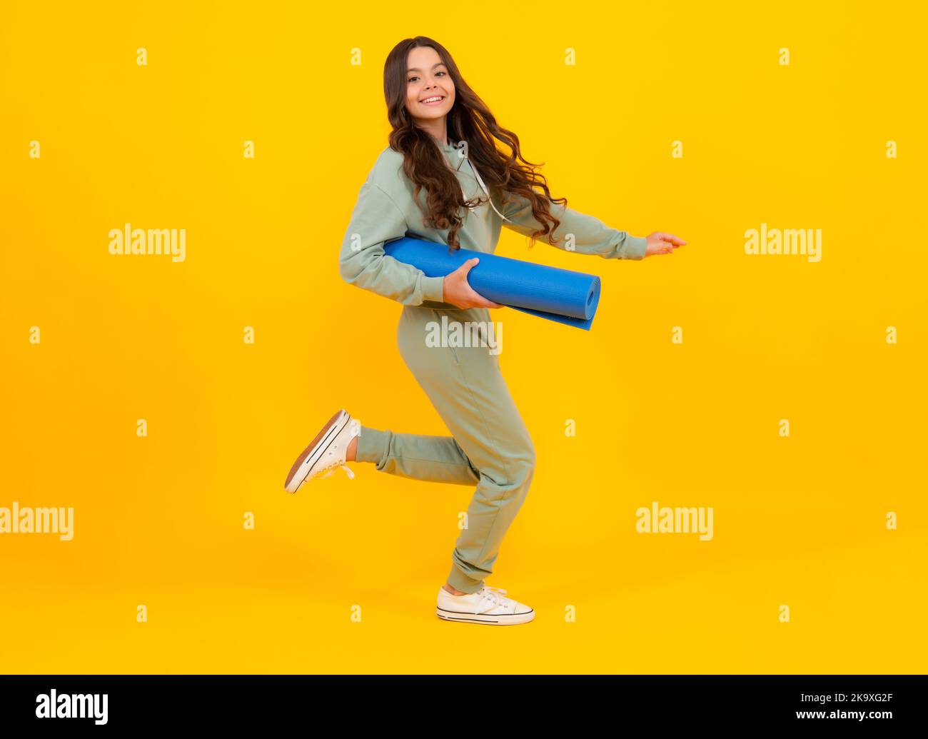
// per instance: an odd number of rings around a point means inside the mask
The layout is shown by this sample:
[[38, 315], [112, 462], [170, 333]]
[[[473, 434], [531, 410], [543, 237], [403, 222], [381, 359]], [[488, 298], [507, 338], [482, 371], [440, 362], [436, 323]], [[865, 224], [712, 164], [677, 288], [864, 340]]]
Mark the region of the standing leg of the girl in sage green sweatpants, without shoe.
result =
[[[431, 321], [491, 321], [487, 308], [434, 310], [404, 306], [397, 330], [400, 353], [458, 446], [479, 470], [467, 527], [452, 552], [448, 584], [481, 590], [493, 572], [500, 544], [528, 493], [535, 447], [487, 346], [429, 346]], [[485, 333], [484, 333], [485, 336]]]

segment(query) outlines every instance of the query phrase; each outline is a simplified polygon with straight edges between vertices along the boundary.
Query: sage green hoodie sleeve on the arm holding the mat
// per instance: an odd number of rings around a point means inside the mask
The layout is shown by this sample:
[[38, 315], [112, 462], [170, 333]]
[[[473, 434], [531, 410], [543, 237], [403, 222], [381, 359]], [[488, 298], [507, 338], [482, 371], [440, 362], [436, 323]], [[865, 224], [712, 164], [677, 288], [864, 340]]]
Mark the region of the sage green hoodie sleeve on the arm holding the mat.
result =
[[349, 285], [404, 305], [444, 302], [445, 278], [427, 277], [418, 267], [393, 259], [383, 244], [406, 236], [406, 217], [390, 195], [368, 177], [358, 193], [342, 241], [339, 272]]

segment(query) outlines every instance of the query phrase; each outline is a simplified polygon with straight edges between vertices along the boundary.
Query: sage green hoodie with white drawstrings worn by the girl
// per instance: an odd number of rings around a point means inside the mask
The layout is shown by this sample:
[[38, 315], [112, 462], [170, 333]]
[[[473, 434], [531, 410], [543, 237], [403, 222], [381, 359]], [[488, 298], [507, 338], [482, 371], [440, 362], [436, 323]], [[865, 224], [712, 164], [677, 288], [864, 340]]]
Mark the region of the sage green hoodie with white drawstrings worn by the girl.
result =
[[[465, 200], [480, 196], [487, 200], [483, 178], [466, 156], [464, 142], [439, 144], [445, 161], [456, 172]], [[527, 198], [507, 193], [508, 201], [485, 202], [463, 216], [458, 230], [462, 249], [493, 253], [499, 240], [501, 227], [528, 236], [540, 224], [532, 215]], [[425, 207], [425, 188], [419, 192], [419, 202]], [[647, 240], [630, 236], [625, 231], [607, 227], [598, 218], [577, 213], [571, 208], [552, 203], [551, 214], [561, 224], [554, 231], [555, 238], [574, 234], [574, 252], [598, 254], [604, 259], [644, 259]], [[422, 223], [422, 211], [413, 199], [413, 184], [403, 172], [403, 154], [390, 147], [383, 149], [367, 180], [361, 186], [354, 212], [342, 241], [339, 270], [342, 279], [351, 285], [376, 292], [403, 305], [424, 305], [434, 308], [451, 308], [444, 302], [443, 277], [427, 277], [418, 267], [407, 265], [383, 251], [386, 241], [408, 236], [446, 244], [448, 229], [435, 230]], [[545, 237], [539, 243], [548, 243]], [[565, 250], [561, 241], [555, 244]]]

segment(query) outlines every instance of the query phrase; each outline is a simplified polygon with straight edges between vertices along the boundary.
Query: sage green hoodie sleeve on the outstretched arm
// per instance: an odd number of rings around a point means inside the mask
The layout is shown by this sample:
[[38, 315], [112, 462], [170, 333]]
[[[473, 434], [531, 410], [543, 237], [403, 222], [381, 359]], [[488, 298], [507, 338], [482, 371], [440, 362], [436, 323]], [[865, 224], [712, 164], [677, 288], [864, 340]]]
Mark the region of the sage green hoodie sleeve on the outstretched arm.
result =
[[[505, 203], [503, 215], [512, 223], [504, 220], [503, 226], [523, 236], [529, 236], [541, 227], [532, 214], [532, 203], [528, 198], [512, 192], [508, 192], [506, 197], [509, 201]], [[561, 239], [561, 241], [557, 244], [548, 244], [549, 246], [556, 246], [565, 252], [598, 254], [604, 259], [644, 259], [648, 240], [643, 236], [631, 236], [625, 231], [610, 228], [599, 218], [577, 213], [560, 203], [552, 202], [550, 210], [551, 214], [561, 221], [561, 224], [554, 229], [553, 234], [548, 236]], [[574, 234], [574, 249], [567, 249], [567, 244], [563, 241], [566, 234]], [[540, 240], [548, 243], [546, 237], [541, 237]]]

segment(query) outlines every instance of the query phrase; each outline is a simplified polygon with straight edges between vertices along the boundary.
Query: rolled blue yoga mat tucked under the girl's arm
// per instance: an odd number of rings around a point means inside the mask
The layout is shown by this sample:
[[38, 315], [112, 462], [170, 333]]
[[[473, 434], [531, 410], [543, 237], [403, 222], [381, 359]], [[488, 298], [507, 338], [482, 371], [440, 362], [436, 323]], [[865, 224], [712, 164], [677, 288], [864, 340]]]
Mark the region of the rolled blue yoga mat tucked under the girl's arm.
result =
[[445, 277], [471, 257], [479, 257], [480, 262], [468, 272], [474, 291], [494, 303], [578, 329], [589, 331], [599, 305], [596, 275], [470, 249], [454, 251], [446, 244], [409, 237], [387, 241], [383, 251], [418, 267], [427, 277]]

